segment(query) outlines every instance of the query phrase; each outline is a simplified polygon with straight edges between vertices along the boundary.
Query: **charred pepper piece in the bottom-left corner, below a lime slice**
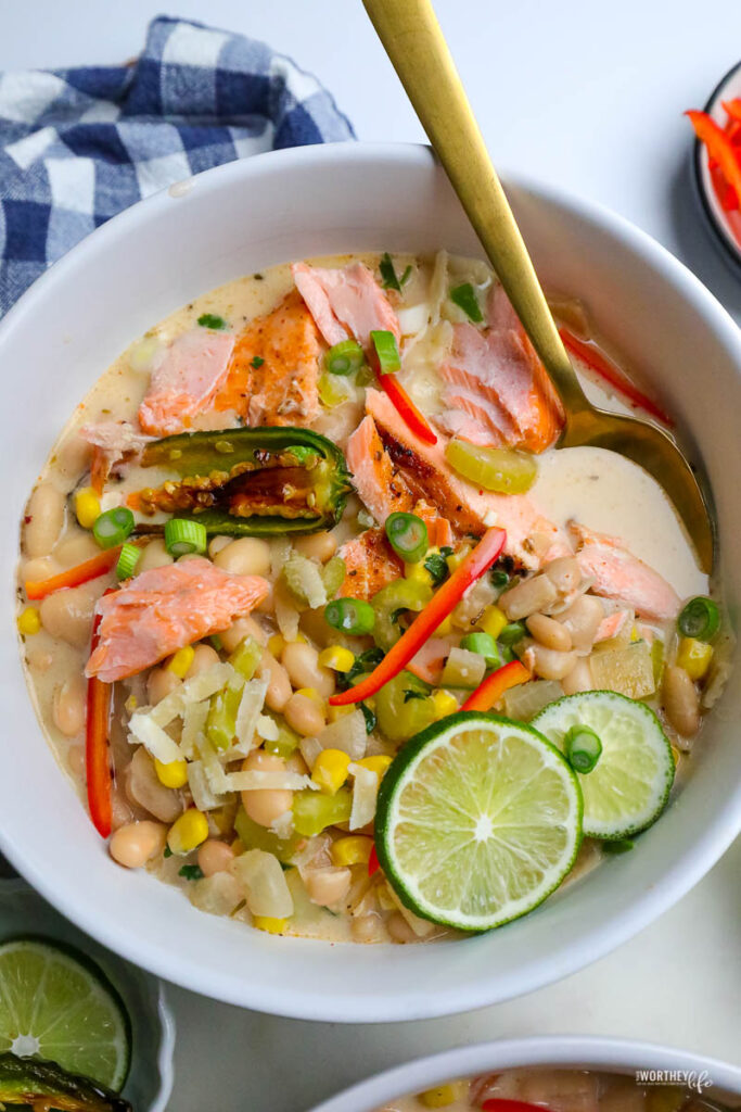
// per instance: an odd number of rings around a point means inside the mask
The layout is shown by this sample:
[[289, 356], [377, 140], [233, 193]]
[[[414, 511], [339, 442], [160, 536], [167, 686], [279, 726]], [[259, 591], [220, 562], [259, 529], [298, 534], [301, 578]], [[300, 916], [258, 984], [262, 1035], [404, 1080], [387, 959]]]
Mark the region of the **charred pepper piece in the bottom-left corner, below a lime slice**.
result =
[[0, 1054], [0, 1104], [59, 1109], [59, 1112], [132, 1112], [109, 1089], [67, 1073], [56, 1062]]

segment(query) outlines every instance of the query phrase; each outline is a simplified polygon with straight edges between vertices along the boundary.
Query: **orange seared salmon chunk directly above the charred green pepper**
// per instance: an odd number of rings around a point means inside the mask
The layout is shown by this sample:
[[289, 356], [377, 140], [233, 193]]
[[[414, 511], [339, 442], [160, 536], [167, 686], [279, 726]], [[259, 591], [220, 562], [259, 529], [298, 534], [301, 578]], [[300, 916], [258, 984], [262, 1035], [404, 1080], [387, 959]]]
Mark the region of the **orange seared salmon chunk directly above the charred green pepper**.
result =
[[214, 409], [236, 411], [249, 426], [311, 425], [319, 416], [321, 354], [311, 314], [291, 290], [237, 338]]

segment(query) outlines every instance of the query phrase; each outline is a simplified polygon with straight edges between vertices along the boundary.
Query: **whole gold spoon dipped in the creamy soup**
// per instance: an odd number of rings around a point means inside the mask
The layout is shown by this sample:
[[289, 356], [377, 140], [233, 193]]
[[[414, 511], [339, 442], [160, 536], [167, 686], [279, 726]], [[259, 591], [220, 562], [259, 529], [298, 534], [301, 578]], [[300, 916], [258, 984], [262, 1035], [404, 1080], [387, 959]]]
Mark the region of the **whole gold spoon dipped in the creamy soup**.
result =
[[709, 500], [672, 438], [637, 417], [598, 409], [579, 385], [430, 0], [363, 0], [363, 3], [469, 220], [561, 397], [565, 426], [558, 446], [609, 448], [650, 471], [684, 522], [700, 566], [710, 573], [714, 530]]

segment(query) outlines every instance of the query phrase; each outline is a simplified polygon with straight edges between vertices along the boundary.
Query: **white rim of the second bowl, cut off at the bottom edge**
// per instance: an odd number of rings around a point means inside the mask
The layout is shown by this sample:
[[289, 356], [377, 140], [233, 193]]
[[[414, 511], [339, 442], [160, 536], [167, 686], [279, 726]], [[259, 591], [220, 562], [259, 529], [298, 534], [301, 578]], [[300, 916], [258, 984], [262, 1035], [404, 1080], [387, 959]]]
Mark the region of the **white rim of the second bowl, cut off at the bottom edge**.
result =
[[375, 1112], [385, 1101], [424, 1092], [455, 1078], [521, 1066], [605, 1070], [630, 1076], [637, 1070], [664, 1073], [679, 1070], [683, 1071], [688, 1088], [700, 1088], [711, 1100], [713, 1094], [720, 1099], [722, 1090], [733, 1098], [732, 1106], [741, 1104], [741, 1070], [737, 1066], [653, 1043], [575, 1035], [508, 1039], [420, 1058], [347, 1089], [319, 1104], [313, 1112]]

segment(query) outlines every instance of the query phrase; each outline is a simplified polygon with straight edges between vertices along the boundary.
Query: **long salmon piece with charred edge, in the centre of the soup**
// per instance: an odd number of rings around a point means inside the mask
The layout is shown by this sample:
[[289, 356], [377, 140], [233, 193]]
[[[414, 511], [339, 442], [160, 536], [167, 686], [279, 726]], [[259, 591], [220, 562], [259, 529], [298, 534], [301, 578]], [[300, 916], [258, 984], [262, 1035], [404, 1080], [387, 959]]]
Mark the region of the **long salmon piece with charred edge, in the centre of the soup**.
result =
[[445, 459], [445, 437], [438, 437], [435, 445], [424, 444], [401, 420], [385, 394], [368, 390], [366, 408], [412, 495], [432, 503], [457, 534], [480, 537], [490, 525], [500, 525], [507, 529], [504, 552], [527, 568], [571, 554], [568, 538], [525, 495], [481, 490], [457, 476]]

